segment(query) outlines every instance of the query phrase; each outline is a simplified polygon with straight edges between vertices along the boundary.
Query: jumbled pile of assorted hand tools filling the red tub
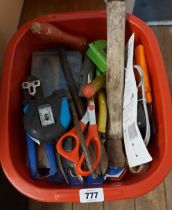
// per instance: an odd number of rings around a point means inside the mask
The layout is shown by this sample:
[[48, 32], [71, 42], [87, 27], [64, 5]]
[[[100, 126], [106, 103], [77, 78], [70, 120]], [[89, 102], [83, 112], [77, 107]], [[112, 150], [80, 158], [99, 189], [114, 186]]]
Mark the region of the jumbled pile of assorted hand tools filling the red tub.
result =
[[[132, 34], [125, 47], [121, 107], [115, 97], [119, 84], [109, 70], [108, 40], [89, 42], [41, 22], [34, 22], [31, 32], [54, 43], [33, 52], [31, 74], [22, 82], [31, 177], [90, 185], [121, 180], [127, 171], [146, 173], [155, 128], [144, 46], [134, 46]], [[114, 109], [122, 114], [116, 116]]]

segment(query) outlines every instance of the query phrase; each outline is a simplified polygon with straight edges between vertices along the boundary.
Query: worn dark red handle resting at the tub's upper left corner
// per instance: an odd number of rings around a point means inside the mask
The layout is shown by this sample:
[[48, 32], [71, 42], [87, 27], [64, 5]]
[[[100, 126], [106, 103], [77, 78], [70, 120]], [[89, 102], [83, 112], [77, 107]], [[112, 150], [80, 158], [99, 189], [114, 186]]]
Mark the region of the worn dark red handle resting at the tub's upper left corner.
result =
[[69, 45], [76, 50], [82, 51], [87, 45], [86, 38], [69, 34], [50, 23], [34, 22], [31, 26], [31, 31], [42, 39]]

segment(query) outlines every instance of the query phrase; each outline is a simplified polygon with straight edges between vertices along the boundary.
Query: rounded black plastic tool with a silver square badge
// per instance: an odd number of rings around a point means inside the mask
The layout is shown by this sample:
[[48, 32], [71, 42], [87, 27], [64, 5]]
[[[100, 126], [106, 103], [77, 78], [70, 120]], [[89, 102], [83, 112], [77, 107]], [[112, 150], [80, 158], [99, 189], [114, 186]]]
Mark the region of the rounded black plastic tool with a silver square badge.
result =
[[56, 143], [66, 129], [60, 123], [61, 99], [66, 96], [64, 90], [56, 91], [46, 98], [32, 100], [24, 115], [26, 132], [40, 143]]

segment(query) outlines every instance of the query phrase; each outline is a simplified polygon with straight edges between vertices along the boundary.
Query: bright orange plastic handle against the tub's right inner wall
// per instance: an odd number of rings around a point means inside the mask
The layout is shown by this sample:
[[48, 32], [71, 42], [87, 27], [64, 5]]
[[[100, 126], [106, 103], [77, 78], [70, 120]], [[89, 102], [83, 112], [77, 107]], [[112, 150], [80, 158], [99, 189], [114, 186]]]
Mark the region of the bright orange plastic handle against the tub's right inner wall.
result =
[[143, 45], [138, 45], [135, 48], [135, 61], [136, 61], [136, 64], [139, 65], [143, 70], [146, 102], [152, 103], [152, 95], [151, 95], [148, 67], [147, 67], [147, 62], [146, 62], [145, 49], [144, 49]]

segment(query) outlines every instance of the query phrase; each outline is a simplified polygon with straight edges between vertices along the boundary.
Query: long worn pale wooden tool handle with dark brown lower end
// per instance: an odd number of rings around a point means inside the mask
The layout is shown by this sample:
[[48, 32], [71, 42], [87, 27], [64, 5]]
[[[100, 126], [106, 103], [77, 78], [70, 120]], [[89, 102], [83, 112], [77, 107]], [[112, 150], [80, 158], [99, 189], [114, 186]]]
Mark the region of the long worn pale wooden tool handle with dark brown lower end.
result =
[[124, 167], [123, 92], [126, 5], [122, 0], [107, 3], [107, 72], [106, 90], [109, 113], [107, 154], [109, 162]]

